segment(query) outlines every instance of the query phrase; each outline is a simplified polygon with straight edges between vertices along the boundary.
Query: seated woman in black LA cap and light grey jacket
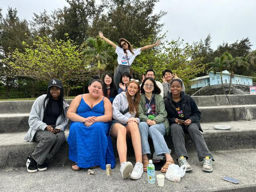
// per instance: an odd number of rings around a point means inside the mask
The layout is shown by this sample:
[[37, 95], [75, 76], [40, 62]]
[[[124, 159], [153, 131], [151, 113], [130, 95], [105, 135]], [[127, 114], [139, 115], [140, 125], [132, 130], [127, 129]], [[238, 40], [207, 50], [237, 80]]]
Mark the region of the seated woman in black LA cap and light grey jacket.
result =
[[47, 94], [38, 97], [30, 111], [30, 126], [24, 139], [39, 142], [28, 157], [26, 166], [30, 173], [44, 171], [49, 159], [66, 141], [64, 131], [68, 124], [66, 112], [68, 104], [64, 100], [63, 84], [59, 79], [51, 79]]

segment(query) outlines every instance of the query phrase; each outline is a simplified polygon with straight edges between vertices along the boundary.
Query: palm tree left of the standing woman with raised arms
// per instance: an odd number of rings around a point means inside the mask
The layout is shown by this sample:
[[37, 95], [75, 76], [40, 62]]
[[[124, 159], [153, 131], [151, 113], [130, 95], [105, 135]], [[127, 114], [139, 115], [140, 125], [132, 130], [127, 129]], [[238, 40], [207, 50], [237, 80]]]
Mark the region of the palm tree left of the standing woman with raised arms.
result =
[[115, 56], [114, 48], [100, 38], [86, 39], [86, 48], [82, 51], [83, 62], [90, 60], [97, 66], [97, 75], [106, 68], [106, 65], [113, 60]]

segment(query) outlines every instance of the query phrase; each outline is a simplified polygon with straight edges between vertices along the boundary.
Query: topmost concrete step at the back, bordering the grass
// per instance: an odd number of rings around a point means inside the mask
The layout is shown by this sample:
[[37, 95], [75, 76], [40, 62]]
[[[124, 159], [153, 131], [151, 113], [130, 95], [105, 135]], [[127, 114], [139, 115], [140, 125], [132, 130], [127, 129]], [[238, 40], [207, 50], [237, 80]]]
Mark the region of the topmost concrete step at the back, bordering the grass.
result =
[[[199, 107], [256, 104], [256, 95], [193, 96]], [[70, 104], [72, 100], [66, 100]], [[34, 101], [1, 101], [0, 114], [30, 113]]]

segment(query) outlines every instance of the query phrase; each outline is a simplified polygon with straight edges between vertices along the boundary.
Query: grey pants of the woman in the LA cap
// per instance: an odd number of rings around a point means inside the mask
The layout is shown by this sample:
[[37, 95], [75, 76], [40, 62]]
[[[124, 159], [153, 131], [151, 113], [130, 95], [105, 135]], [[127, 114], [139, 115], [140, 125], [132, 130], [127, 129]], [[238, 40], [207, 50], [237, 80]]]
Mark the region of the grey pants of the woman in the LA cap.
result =
[[63, 131], [54, 134], [47, 130], [38, 130], [34, 135], [34, 141], [39, 141], [39, 143], [31, 156], [38, 164], [42, 165], [46, 158], [50, 159], [54, 156], [66, 138]]

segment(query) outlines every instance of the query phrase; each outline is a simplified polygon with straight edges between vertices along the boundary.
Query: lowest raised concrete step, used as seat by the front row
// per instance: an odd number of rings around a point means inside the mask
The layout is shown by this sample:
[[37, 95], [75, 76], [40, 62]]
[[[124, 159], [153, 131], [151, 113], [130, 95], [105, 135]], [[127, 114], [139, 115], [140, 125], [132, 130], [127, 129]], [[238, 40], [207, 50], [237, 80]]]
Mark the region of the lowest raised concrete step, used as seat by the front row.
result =
[[[216, 123], [202, 123], [204, 130], [203, 136], [210, 151], [213, 150], [235, 150], [243, 148], [255, 148], [256, 147], [256, 120], [253, 121], [240, 121], [240, 122], [216, 122]], [[230, 125], [232, 127], [229, 131], [214, 130], [215, 124]], [[26, 132], [5, 133], [0, 134], [0, 167], [20, 167], [25, 166], [26, 158], [29, 156], [35, 146], [36, 142], [26, 142], [23, 140]], [[65, 132], [68, 136], [68, 130]], [[172, 144], [171, 136], [167, 136], [166, 142], [168, 147], [172, 150], [174, 155], [174, 148]], [[118, 153], [116, 150], [116, 139], [112, 140], [116, 157]], [[127, 156], [134, 156], [132, 142], [127, 139]], [[150, 148], [153, 154], [153, 144], [150, 140]], [[188, 136], [186, 136], [186, 148], [188, 151], [195, 151], [195, 147]], [[68, 144], [67, 142], [62, 145], [56, 156], [52, 158], [51, 163], [53, 165], [65, 165], [70, 164], [68, 160]]]

